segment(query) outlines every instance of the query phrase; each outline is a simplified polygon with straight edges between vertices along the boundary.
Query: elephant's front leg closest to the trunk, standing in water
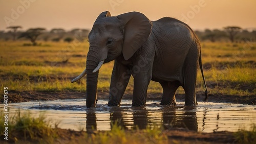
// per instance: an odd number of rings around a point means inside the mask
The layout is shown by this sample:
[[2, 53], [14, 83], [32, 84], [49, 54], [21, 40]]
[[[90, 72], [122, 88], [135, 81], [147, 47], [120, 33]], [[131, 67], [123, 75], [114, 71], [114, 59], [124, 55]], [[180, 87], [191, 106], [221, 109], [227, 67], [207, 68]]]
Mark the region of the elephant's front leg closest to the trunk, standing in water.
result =
[[129, 83], [131, 71], [115, 60], [110, 83], [108, 106], [120, 106], [123, 93]]

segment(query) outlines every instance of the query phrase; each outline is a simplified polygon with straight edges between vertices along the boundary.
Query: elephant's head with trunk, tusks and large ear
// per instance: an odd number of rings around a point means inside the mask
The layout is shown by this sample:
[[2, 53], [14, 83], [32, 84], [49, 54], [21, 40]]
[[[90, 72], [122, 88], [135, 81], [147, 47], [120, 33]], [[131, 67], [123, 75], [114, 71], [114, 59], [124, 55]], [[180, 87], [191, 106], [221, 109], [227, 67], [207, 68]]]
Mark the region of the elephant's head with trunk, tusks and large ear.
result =
[[102, 12], [89, 33], [89, 52], [86, 69], [71, 82], [87, 74], [87, 107], [95, 107], [97, 98], [98, 70], [103, 63], [122, 55], [130, 59], [151, 33], [152, 23], [142, 13], [130, 12], [111, 16]]

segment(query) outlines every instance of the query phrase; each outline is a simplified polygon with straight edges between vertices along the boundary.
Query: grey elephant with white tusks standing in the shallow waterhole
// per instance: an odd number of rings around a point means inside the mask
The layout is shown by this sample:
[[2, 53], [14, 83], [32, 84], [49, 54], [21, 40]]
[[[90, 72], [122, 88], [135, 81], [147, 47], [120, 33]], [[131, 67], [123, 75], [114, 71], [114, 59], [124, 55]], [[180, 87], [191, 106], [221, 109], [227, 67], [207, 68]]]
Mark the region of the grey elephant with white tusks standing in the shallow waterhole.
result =
[[185, 105], [197, 105], [196, 80], [200, 65], [207, 99], [200, 40], [184, 22], [170, 17], [149, 20], [140, 12], [111, 16], [100, 13], [88, 35], [86, 68], [71, 82], [87, 74], [86, 106], [95, 107], [99, 69], [114, 60], [108, 106], [120, 106], [130, 77], [134, 77], [132, 106], [145, 106], [150, 81], [163, 88], [161, 105], [176, 105], [179, 86]]

